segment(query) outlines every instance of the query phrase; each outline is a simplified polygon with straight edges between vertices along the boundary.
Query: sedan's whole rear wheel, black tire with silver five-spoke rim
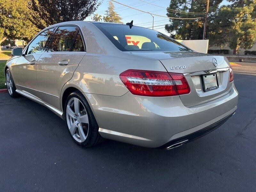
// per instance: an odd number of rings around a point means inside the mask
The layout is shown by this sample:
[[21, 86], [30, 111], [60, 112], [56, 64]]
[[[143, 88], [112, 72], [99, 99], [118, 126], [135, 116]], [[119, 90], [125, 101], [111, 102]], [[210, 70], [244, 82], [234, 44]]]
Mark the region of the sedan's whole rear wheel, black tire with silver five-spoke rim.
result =
[[69, 94], [64, 114], [68, 132], [76, 145], [89, 148], [105, 140], [99, 133], [99, 126], [88, 102], [79, 91]]

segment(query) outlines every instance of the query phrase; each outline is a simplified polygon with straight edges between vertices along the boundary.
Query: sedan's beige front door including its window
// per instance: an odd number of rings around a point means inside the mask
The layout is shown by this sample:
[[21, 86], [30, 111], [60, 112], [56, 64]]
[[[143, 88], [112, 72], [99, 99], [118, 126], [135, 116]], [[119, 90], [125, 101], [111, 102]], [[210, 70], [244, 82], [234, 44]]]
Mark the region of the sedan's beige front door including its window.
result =
[[12, 66], [15, 83], [21, 91], [37, 96], [36, 62], [44, 52], [53, 31], [54, 29], [51, 28], [37, 35], [28, 45], [24, 55], [20, 56], [16, 64]]

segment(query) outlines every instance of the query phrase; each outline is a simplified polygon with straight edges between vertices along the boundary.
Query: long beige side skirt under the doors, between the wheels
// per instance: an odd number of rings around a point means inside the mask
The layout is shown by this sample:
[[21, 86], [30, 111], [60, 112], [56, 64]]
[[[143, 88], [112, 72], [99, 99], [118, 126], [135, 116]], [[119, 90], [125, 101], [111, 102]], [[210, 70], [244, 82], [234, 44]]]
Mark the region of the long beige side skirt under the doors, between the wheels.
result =
[[59, 116], [60, 118], [64, 119], [62, 111], [60, 111], [59, 109], [49, 105], [48, 103], [44, 102], [43, 100], [39, 99], [38, 97], [35, 97], [34, 95], [32, 95], [32, 94], [30, 94], [28, 92], [24, 92], [24, 91], [21, 91], [21, 90], [18, 90], [18, 89], [16, 89], [16, 92], [19, 93], [20, 95], [23, 95], [24, 97], [27, 97], [30, 100], [33, 100], [33, 101], [43, 105], [44, 107], [47, 107], [53, 113], [55, 113], [57, 116]]

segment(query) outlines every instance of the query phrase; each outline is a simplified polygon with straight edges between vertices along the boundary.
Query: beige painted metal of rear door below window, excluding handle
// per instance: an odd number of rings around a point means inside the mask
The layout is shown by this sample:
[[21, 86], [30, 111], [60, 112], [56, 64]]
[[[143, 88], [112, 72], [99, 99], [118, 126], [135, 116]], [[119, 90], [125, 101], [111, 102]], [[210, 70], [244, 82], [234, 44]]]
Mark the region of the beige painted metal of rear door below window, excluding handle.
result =
[[[48, 104], [60, 108], [60, 92], [73, 76], [85, 52], [45, 52], [37, 61], [37, 90]], [[67, 65], [58, 64], [67, 60]]]

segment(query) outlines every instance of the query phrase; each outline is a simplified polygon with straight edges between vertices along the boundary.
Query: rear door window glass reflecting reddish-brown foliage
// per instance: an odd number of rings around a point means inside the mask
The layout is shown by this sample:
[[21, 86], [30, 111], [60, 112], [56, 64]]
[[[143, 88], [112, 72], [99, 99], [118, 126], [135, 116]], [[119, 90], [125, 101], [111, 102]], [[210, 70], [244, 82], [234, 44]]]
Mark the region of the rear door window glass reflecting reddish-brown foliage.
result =
[[[73, 47], [72, 47], [73, 45]], [[71, 48], [72, 47], [72, 48]], [[52, 39], [48, 52], [84, 51], [84, 44], [78, 28], [59, 27]]]

